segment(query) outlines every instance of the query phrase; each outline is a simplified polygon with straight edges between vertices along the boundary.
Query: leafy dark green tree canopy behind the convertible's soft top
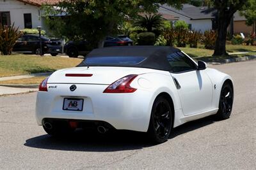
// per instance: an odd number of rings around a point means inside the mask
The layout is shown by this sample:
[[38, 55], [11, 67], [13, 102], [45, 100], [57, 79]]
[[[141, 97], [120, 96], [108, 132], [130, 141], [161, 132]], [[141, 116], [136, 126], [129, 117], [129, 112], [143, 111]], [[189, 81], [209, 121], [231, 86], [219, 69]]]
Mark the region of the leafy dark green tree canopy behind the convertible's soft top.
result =
[[[44, 16], [55, 33], [68, 39], [87, 39], [93, 46], [102, 47], [106, 36], [115, 34], [118, 25], [127, 18], [136, 18], [141, 12], [155, 12], [159, 3], [180, 8], [186, 1], [63, 0], [55, 7], [44, 6]], [[66, 17], [58, 17], [61, 13]]]

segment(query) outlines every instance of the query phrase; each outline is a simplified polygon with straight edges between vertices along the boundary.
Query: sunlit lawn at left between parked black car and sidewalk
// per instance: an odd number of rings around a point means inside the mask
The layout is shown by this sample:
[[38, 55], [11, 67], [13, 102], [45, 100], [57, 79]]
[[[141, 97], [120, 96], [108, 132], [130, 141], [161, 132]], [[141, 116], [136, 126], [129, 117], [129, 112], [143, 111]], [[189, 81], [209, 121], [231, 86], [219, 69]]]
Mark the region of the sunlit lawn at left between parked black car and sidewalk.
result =
[[37, 55], [0, 55], [0, 77], [56, 71], [77, 66], [82, 60]]

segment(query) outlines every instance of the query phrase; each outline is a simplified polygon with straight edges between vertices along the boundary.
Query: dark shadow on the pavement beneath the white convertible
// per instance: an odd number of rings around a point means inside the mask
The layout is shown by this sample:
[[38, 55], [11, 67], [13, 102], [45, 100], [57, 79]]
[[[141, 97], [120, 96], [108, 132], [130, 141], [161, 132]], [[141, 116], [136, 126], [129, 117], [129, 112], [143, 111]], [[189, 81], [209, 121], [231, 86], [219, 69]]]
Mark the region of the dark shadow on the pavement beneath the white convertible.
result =
[[[215, 122], [214, 117], [206, 117], [173, 129], [169, 139], [199, 129]], [[66, 150], [80, 152], [115, 152], [120, 150], [139, 150], [154, 146], [147, 134], [132, 131], [115, 131], [108, 134], [79, 130], [72, 136], [51, 137], [48, 134], [26, 140], [24, 146], [48, 150]]]

